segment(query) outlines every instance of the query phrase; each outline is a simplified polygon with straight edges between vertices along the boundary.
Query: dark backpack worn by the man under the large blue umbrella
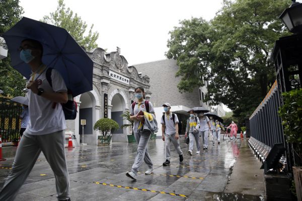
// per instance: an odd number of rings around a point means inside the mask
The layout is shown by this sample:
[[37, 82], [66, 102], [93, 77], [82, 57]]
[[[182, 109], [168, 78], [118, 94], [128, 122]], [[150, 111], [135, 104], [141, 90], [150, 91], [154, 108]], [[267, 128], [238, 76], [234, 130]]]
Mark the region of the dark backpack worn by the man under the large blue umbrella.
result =
[[[46, 80], [48, 81], [49, 85], [52, 88], [51, 71], [52, 68], [48, 68], [46, 70]], [[72, 93], [69, 89], [67, 89], [67, 96], [68, 96], [67, 103], [61, 103], [65, 115], [65, 119], [75, 119], [75, 117], [77, 117], [77, 108], [78, 108], [77, 102], [73, 100]], [[55, 105], [56, 103], [54, 103], [54, 107]]]

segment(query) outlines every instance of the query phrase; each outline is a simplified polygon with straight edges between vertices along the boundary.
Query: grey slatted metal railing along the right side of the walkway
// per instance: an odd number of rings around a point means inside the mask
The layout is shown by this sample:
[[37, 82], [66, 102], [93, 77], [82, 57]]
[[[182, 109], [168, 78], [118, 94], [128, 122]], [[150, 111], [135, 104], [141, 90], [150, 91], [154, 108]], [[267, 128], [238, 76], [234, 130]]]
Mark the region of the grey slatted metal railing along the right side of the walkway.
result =
[[277, 81], [261, 104], [250, 116], [251, 142], [256, 154], [264, 161], [274, 144], [283, 143], [283, 127], [278, 116], [280, 107]]

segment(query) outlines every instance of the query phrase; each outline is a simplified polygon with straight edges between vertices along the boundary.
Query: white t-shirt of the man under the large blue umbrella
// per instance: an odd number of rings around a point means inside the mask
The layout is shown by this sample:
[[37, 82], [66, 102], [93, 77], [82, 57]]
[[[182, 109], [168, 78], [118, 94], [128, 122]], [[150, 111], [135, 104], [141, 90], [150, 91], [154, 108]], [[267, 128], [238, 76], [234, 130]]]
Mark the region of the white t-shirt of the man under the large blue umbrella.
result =
[[[43, 65], [37, 70], [37, 74], [32, 74], [29, 81], [38, 81], [38, 88], [44, 89], [45, 92], [67, 92], [66, 85], [61, 75], [52, 70], [51, 80], [52, 88], [46, 79], [46, 66]], [[53, 102], [38, 96], [31, 90], [26, 93], [28, 98], [29, 122], [26, 133], [30, 135], [46, 135], [52, 132], [66, 129], [64, 112], [60, 103], [53, 108]]]

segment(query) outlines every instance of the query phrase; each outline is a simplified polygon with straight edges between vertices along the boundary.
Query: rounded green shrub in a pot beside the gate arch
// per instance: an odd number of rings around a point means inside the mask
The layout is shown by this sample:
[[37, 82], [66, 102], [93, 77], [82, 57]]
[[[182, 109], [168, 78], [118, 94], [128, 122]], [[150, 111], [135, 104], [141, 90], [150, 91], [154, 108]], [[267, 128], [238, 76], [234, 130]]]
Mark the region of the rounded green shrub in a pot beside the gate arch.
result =
[[118, 128], [118, 123], [109, 118], [101, 118], [93, 126], [94, 130], [98, 130], [102, 134], [102, 136], [98, 137], [98, 141], [101, 145], [110, 145], [112, 132]]

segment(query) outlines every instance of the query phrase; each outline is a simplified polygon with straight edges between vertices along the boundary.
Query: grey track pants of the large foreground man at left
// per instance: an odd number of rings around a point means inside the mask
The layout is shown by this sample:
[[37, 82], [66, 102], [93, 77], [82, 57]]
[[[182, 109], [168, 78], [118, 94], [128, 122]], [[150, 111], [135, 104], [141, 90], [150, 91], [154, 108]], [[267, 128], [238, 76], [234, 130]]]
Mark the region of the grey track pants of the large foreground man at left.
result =
[[33, 136], [23, 133], [13, 168], [0, 191], [1, 201], [12, 201], [17, 196], [41, 151], [49, 163], [54, 176], [58, 200], [69, 198], [69, 177], [64, 152], [64, 130], [47, 135]]

